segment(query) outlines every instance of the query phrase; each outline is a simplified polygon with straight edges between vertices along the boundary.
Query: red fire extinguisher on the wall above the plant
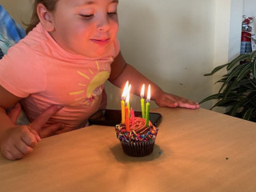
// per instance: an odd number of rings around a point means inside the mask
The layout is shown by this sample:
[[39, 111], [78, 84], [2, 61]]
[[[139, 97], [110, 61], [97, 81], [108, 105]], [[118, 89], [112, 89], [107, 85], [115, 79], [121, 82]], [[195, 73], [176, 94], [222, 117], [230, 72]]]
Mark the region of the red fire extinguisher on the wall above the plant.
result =
[[243, 15], [244, 20], [242, 21], [242, 34], [241, 34], [241, 49], [240, 54], [246, 54], [252, 52], [251, 46], [251, 31], [252, 27], [250, 23], [254, 22], [254, 18], [246, 18]]

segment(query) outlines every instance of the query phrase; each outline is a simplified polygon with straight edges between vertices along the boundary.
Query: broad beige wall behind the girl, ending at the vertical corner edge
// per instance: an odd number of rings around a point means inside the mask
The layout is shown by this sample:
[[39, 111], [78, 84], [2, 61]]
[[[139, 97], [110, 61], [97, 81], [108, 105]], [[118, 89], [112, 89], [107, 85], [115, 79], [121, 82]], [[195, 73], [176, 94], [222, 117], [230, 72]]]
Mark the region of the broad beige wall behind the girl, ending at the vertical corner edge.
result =
[[[118, 13], [127, 62], [170, 93], [194, 101], [212, 93], [203, 74], [214, 62], [214, 0], [121, 0]], [[111, 89], [114, 108], [121, 90]]]

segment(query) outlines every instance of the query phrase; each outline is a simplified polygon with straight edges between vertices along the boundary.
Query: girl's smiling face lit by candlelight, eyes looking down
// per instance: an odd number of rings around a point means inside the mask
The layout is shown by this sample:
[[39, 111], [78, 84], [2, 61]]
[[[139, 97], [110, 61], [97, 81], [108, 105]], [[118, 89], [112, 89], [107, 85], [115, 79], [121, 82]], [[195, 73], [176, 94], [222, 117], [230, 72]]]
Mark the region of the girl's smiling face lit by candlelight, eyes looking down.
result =
[[118, 33], [118, 0], [58, 0], [50, 34], [73, 54], [98, 57]]

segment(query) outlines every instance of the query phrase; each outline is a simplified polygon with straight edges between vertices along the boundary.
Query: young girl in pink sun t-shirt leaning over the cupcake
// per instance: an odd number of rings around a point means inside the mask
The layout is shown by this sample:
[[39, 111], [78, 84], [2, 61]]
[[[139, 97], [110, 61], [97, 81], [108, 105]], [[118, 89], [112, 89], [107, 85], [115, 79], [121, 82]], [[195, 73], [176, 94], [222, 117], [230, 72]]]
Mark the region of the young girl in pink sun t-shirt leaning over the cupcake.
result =
[[[163, 92], [126, 63], [117, 39], [117, 8], [118, 0], [34, 2], [29, 33], [0, 60], [0, 143], [6, 158], [23, 158], [41, 137], [86, 126], [101, 105], [106, 80], [120, 88], [129, 80], [137, 95], [143, 83], [150, 84], [158, 106], [199, 107]], [[6, 115], [18, 101], [30, 125], [14, 125]], [[40, 124], [46, 109], [56, 113]], [[61, 130], [54, 133], [42, 134], [37, 127], [45, 124], [47, 130], [56, 123], [62, 123]]]

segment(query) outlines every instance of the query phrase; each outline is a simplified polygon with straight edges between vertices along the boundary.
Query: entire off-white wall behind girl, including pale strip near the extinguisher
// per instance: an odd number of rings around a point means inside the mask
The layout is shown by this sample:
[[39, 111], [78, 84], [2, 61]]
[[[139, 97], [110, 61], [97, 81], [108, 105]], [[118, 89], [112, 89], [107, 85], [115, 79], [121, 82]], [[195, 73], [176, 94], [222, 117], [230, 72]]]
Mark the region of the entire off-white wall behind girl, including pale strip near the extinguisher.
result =
[[[239, 54], [244, 1], [119, 0], [122, 54], [163, 90], [199, 102], [216, 90], [214, 79], [203, 74]], [[32, 2], [0, 3], [22, 23], [30, 18]], [[119, 108], [122, 90], [110, 83], [106, 88], [108, 107]], [[131, 99], [134, 109], [139, 110], [138, 98]]]

